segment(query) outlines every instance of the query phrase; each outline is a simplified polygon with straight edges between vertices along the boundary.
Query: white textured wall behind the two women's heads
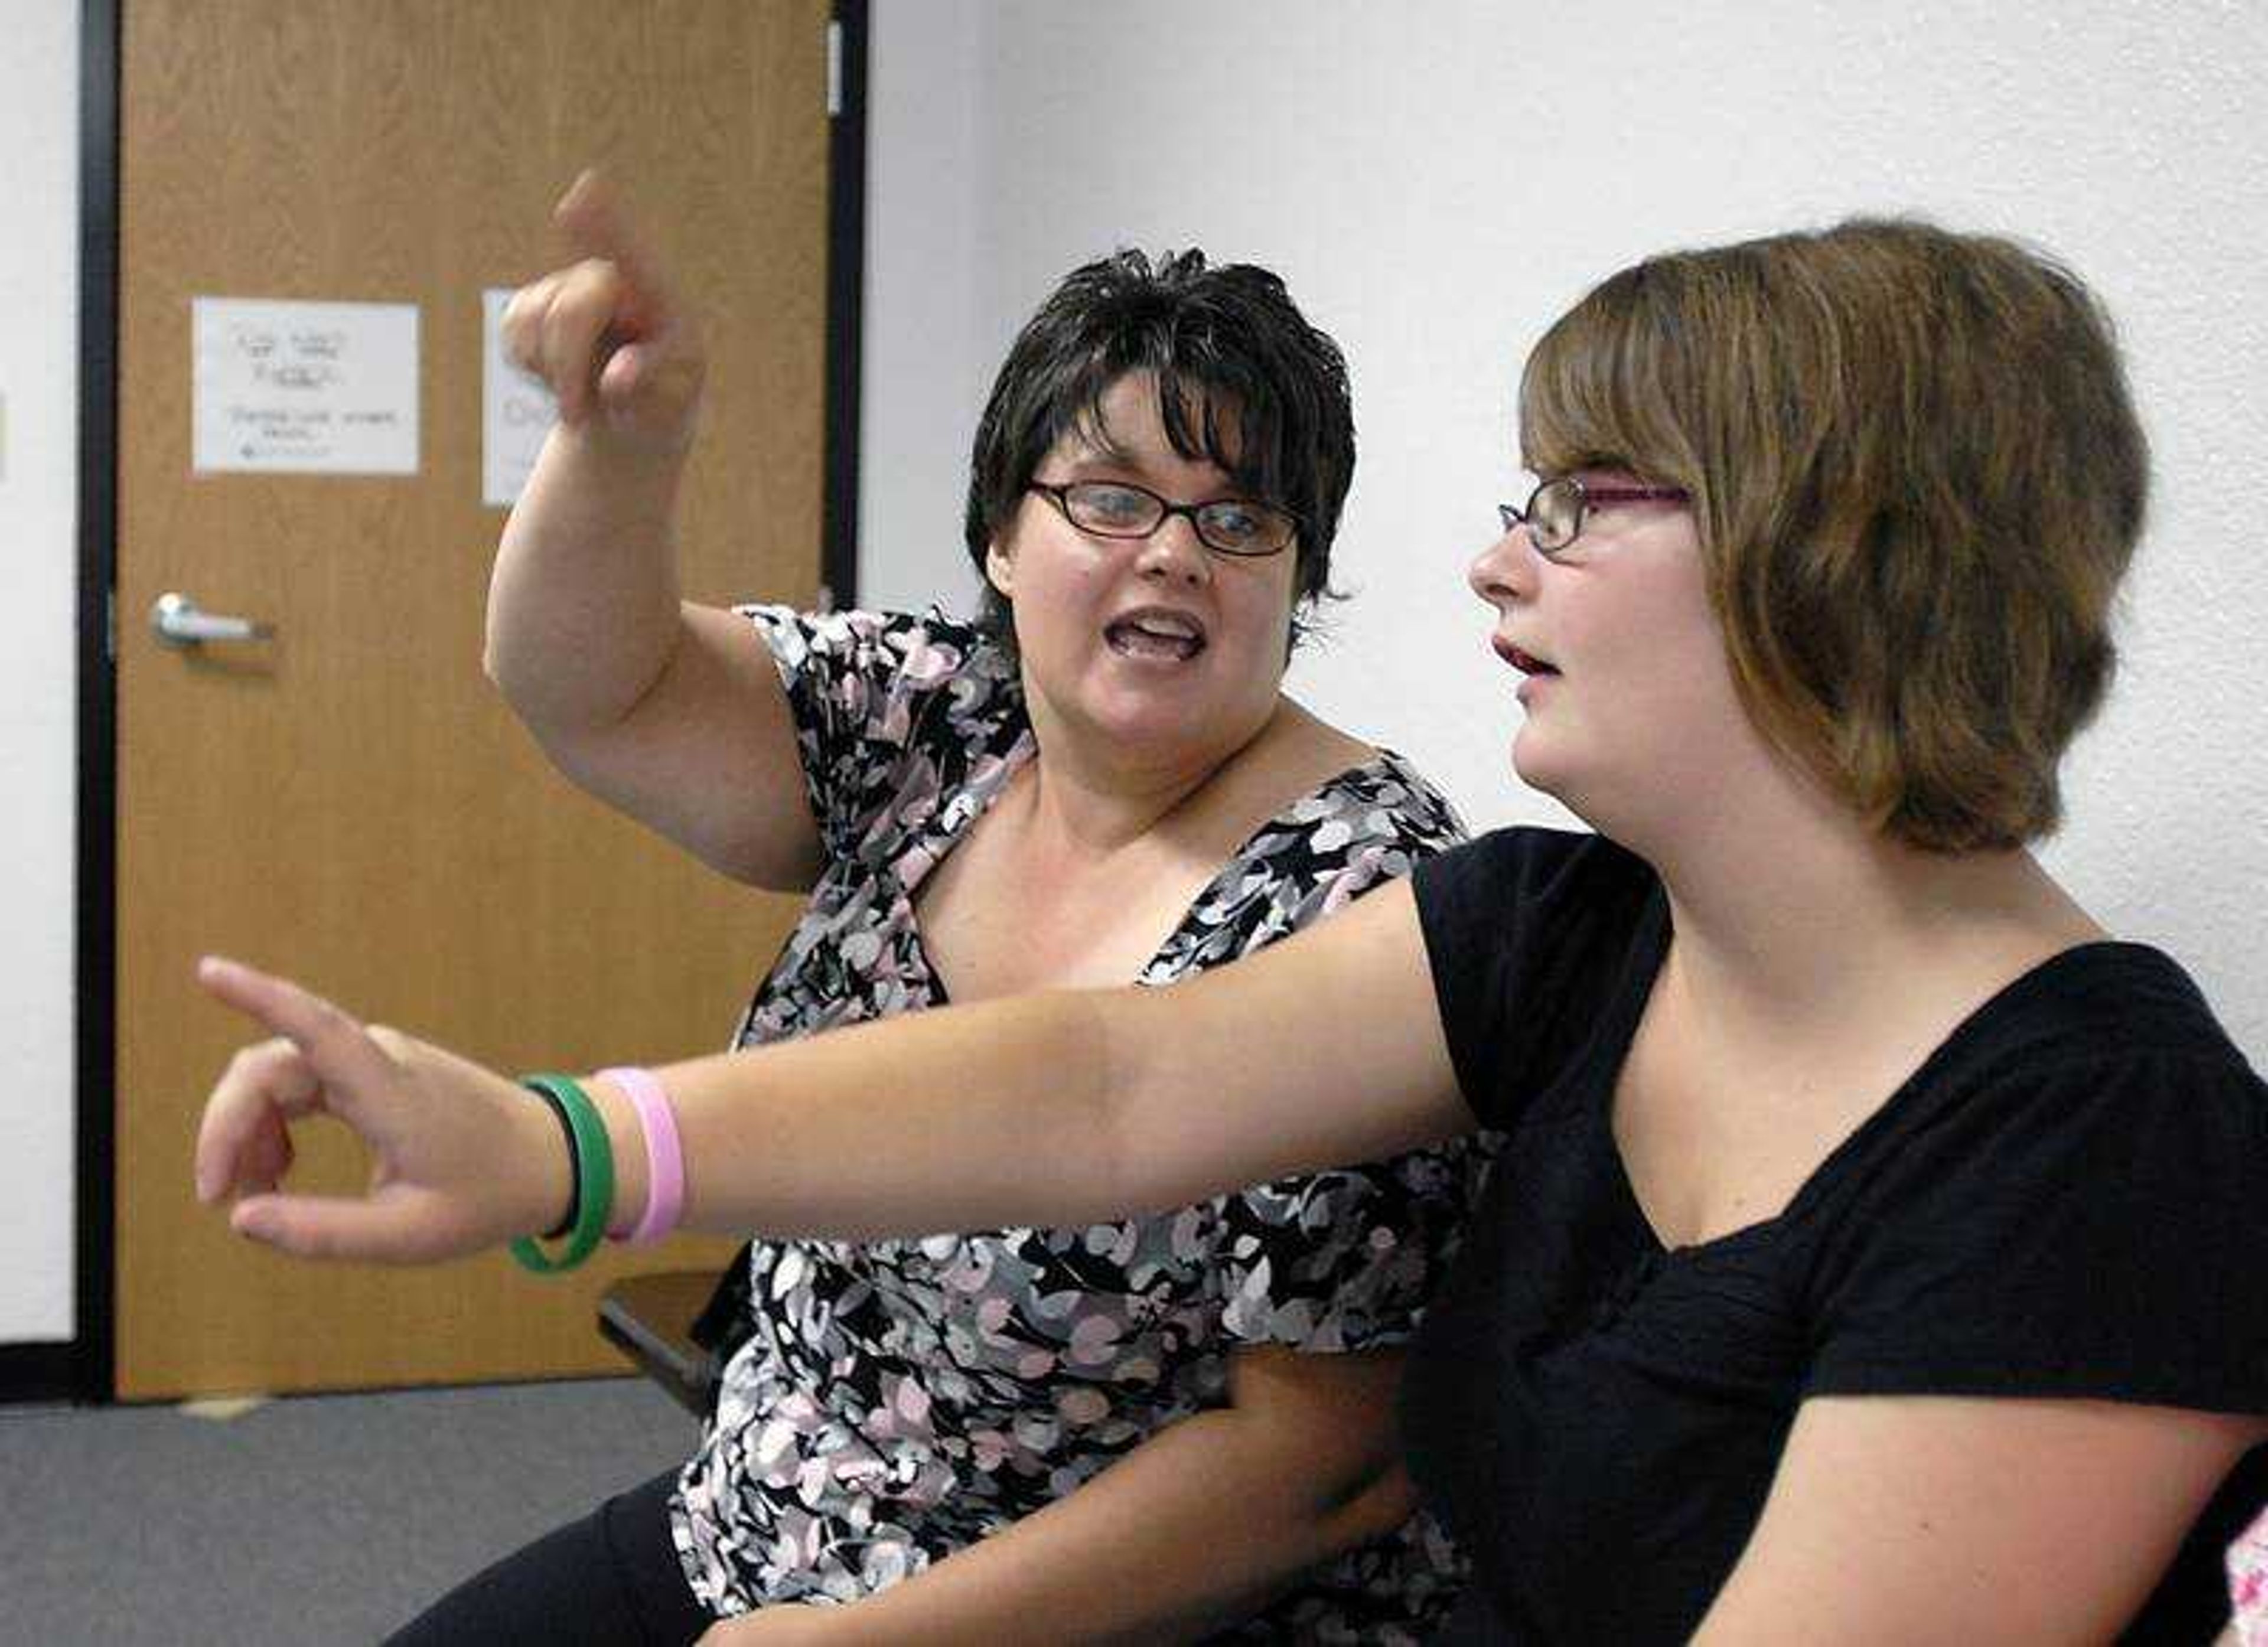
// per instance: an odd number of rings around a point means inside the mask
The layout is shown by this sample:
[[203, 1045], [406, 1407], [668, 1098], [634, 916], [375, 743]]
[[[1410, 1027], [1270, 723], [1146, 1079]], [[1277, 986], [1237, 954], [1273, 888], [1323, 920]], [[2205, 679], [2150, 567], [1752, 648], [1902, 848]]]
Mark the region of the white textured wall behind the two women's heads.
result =
[[[2121, 322], [2157, 501], [2048, 860], [2268, 1066], [2268, 7], [996, 0], [948, 27], [878, 0], [873, 29], [869, 431], [928, 395], [900, 426], [953, 461], [869, 445], [866, 594], [973, 590], [973, 397], [1055, 277], [1114, 245], [1270, 263], [1347, 349], [1363, 454], [1359, 599], [1293, 690], [1474, 826], [1565, 817], [1510, 778], [1517, 706], [1463, 588], [1520, 488], [1513, 383], [1551, 318], [1647, 252], [1853, 211], [2068, 259]], [[962, 340], [950, 306], [896, 322], [914, 270], [971, 284]]]

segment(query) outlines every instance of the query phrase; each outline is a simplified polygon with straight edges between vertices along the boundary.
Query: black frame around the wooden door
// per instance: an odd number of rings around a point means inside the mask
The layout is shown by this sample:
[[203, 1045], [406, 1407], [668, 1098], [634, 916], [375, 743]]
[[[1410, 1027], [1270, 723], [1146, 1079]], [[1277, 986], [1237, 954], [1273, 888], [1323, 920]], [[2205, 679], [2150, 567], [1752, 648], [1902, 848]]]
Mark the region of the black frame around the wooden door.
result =
[[[118, 1059], [118, 145], [120, 9], [79, 14], [79, 694], [77, 1295], [64, 1345], [0, 1348], [0, 1402], [116, 1400]], [[835, 0], [828, 48], [828, 320], [819, 567], [857, 601], [860, 361], [866, 281], [869, 0]], [[184, 1159], [181, 1171], [188, 1171]], [[594, 1327], [596, 1332], [596, 1327]]]

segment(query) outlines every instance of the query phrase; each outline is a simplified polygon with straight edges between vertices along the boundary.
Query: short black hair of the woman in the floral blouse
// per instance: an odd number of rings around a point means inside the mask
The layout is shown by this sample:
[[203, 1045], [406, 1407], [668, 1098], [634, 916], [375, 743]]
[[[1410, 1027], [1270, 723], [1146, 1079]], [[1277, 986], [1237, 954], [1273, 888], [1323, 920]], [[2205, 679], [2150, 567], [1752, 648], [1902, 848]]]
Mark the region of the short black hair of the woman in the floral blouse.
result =
[[[1118, 252], [1075, 268], [1016, 333], [968, 463], [968, 558], [984, 554], [1025, 485], [1070, 431], [1102, 436], [1102, 397], [1127, 372], [1157, 379], [1166, 440], [1218, 465], [1256, 501], [1300, 522], [1293, 644], [1327, 597], [1331, 540], [1354, 481], [1347, 358], [1309, 324], [1284, 281], [1256, 263], [1209, 268], [1204, 252], [1152, 263]], [[980, 622], [1014, 651], [1007, 599], [982, 583]]]

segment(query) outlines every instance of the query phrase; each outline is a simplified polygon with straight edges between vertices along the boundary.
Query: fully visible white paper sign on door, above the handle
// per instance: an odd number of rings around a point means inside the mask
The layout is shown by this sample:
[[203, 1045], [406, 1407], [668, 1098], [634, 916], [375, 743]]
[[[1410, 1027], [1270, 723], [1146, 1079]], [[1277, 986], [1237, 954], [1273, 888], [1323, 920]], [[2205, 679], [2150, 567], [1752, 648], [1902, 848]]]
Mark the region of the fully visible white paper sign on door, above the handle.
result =
[[417, 474], [417, 306], [197, 297], [197, 474]]

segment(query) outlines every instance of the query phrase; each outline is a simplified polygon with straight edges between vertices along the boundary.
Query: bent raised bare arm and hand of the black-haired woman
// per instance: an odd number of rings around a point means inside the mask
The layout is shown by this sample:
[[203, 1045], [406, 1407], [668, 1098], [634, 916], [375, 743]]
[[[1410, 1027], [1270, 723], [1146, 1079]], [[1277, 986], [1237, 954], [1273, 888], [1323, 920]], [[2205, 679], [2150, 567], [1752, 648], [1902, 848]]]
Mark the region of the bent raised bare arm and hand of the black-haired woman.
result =
[[556, 220], [574, 261], [503, 318], [560, 422], [503, 524], [488, 674], [578, 785], [737, 880], [803, 889], [819, 835], [787, 694], [739, 617], [678, 597], [699, 331], [596, 177]]

